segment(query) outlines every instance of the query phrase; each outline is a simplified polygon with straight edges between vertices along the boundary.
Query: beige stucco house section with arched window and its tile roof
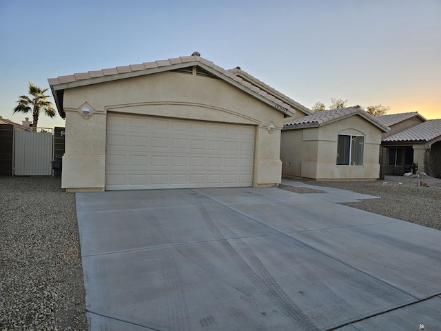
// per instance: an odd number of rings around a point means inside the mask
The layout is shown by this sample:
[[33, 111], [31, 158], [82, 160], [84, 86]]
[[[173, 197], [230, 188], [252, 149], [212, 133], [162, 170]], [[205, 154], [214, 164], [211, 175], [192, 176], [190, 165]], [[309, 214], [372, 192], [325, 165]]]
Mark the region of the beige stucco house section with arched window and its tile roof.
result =
[[376, 180], [381, 135], [389, 128], [359, 106], [288, 121], [282, 131], [282, 173], [322, 181]]

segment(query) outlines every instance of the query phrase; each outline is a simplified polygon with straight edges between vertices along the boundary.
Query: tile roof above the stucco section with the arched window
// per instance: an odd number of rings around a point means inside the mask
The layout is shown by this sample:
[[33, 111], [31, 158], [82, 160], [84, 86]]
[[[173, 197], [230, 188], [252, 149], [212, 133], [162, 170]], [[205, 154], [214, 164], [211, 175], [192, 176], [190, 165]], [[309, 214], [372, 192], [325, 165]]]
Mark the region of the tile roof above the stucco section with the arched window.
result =
[[327, 123], [332, 123], [346, 117], [351, 117], [353, 115], [359, 115], [371, 122], [374, 126], [380, 128], [384, 132], [389, 132], [390, 128], [385, 126], [383, 123], [378, 121], [375, 117], [371, 116], [365, 110], [362, 110], [360, 106], [353, 106], [347, 108], [333, 109], [333, 110], [322, 110], [321, 112], [316, 112], [312, 115], [305, 117], [300, 117], [300, 119], [295, 119], [293, 121], [286, 122], [284, 124], [285, 129], [297, 129], [297, 128], [316, 128]]

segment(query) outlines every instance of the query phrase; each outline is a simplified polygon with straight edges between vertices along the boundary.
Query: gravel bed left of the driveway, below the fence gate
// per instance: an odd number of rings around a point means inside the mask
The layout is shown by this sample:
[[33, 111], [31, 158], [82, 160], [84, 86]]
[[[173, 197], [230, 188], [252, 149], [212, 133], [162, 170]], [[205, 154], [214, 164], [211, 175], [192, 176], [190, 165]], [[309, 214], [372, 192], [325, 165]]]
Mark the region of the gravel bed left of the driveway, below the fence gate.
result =
[[0, 330], [88, 330], [75, 196], [0, 176]]

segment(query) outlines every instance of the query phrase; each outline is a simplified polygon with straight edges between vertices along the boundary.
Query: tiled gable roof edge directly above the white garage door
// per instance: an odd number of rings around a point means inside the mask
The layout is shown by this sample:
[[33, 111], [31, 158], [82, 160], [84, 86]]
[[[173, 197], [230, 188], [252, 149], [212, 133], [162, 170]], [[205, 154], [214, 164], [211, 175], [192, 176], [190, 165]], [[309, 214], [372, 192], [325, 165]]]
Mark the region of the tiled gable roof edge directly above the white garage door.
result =
[[61, 117], [65, 117], [63, 110], [63, 91], [67, 88], [87, 86], [95, 83], [103, 83], [105, 81], [114, 81], [116, 79], [138, 77], [156, 72], [188, 68], [190, 66], [199, 66], [204, 70], [207, 70], [214, 77], [218, 77], [232, 83], [232, 85], [244, 90], [261, 101], [264, 101], [288, 116], [292, 116], [295, 112], [295, 110], [292, 109], [289, 103], [286, 103], [283, 98], [278, 98], [274, 94], [268, 93], [257, 86], [252, 86], [252, 84], [250, 84], [248, 81], [237, 77], [236, 74], [229, 72], [229, 70], [220, 68], [212, 61], [204, 59], [197, 52], [194, 52], [191, 57], [178, 57], [175, 59], [145, 62], [130, 66], [81, 72], [77, 74], [70, 74], [68, 76], [50, 78], [48, 79], [48, 82], [59, 114]]

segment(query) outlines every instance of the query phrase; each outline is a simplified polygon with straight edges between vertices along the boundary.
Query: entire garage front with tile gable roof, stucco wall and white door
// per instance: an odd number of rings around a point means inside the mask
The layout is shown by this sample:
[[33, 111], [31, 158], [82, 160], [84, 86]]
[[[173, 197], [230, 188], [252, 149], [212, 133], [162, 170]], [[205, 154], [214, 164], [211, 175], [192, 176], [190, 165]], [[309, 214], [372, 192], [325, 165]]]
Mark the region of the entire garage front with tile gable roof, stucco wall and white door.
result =
[[71, 192], [278, 184], [283, 121], [302, 108], [197, 52], [48, 81]]

